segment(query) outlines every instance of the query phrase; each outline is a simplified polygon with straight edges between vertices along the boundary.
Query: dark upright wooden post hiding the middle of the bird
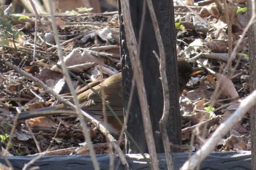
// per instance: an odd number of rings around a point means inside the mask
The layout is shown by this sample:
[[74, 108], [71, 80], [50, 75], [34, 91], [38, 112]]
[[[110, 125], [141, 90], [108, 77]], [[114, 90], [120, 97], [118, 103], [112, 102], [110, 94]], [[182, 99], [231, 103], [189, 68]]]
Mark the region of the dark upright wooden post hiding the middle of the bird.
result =
[[[145, 2], [146, 3], [146, 2]], [[143, 76], [146, 84], [146, 95], [148, 99], [151, 123], [153, 125], [154, 140], [157, 147], [157, 152], [165, 152], [162, 139], [159, 132], [159, 120], [162, 117], [163, 110], [163, 95], [162, 84], [159, 79], [159, 63], [157, 58], [152, 53], [155, 50], [159, 54], [157, 40], [154, 34], [151, 17], [148, 12], [147, 5], [144, 6], [143, 1], [129, 0], [130, 14], [132, 17], [132, 26], [137, 36], [137, 41], [141, 41], [140, 61], [143, 65]], [[176, 65], [176, 30], [174, 24], [173, 1], [153, 0], [154, 10], [159, 22], [160, 34], [165, 47], [165, 55], [167, 56], [167, 81], [170, 88], [170, 115], [169, 123], [167, 124], [167, 132], [170, 142], [181, 144], [181, 117], [178, 106], [178, 73]], [[132, 67], [129, 60], [127, 50], [124, 27], [125, 21], [121, 17], [121, 7], [119, 4], [120, 14], [120, 33], [121, 33], [121, 64], [124, 85], [124, 112], [127, 113], [128, 101], [131, 97], [132, 86]], [[143, 19], [143, 15], [145, 15]], [[140, 28], [142, 29], [140, 35]], [[141, 37], [141, 39], [139, 39]], [[148, 152], [146, 139], [144, 135], [143, 122], [140, 112], [140, 104], [138, 93], [135, 90], [132, 96], [132, 104], [129, 108], [129, 117], [127, 120], [127, 131], [132, 135], [133, 139], [138, 143], [143, 152]], [[178, 150], [173, 148], [174, 151]], [[138, 148], [133, 144], [132, 140], [127, 137], [127, 152], [139, 152]]]

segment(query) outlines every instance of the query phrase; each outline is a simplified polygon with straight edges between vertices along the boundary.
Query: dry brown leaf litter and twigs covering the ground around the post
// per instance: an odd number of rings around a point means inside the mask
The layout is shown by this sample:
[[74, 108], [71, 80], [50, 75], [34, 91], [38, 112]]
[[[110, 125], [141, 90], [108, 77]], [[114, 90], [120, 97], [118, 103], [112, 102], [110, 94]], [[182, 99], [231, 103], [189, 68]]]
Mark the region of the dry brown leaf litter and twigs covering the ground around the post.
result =
[[[248, 41], [244, 39], [237, 51], [238, 55], [233, 58], [234, 66], [239, 56], [242, 56], [238, 67], [233, 68], [234, 75], [238, 76], [230, 80], [225, 75], [226, 73], [222, 72], [227, 64], [225, 58], [228, 52], [227, 23], [223, 17], [225, 14], [223, 4], [211, 3], [205, 7], [198, 4], [192, 4], [191, 7], [203, 20], [199, 20], [197, 15], [186, 7], [178, 7], [175, 3], [176, 23], [179, 23], [176, 27], [178, 57], [194, 61], [191, 63], [192, 66], [203, 66], [215, 72], [215, 74], [208, 72], [206, 75], [197, 77], [198, 85], [189, 85], [181, 96], [183, 144], [189, 144], [192, 134], [195, 134], [196, 140], [193, 144], [195, 150], [203, 144], [202, 139], [208, 139], [219, 123], [233, 113], [238, 104], [238, 98], [244, 98], [249, 94], [249, 82], [244, 78], [249, 74], [248, 59], [246, 58], [249, 53]], [[240, 6], [242, 7], [243, 4], [238, 4], [238, 7]], [[220, 9], [220, 7], [222, 8]], [[228, 7], [234, 9], [236, 6], [230, 3]], [[229, 14], [229, 16], [233, 16], [233, 47], [245, 26], [246, 15], [246, 12], [236, 11], [235, 15]], [[20, 15], [13, 16], [17, 18]], [[64, 62], [69, 70], [87, 82], [101, 81], [121, 69], [118, 20], [116, 18], [118, 18], [117, 12], [58, 16], [57, 25], [65, 56]], [[58, 54], [54, 46], [55, 41], [52, 39], [50, 19], [48, 17], [41, 19], [37, 32], [38, 39], [35, 43], [34, 16], [29, 15], [29, 18], [24, 20], [13, 19], [13, 28], [19, 28], [24, 34], [15, 40], [15, 45], [10, 39], [2, 40], [5, 44], [0, 47], [1, 58], [22, 69], [26, 68], [27, 72], [54, 88], [57, 93], [68, 93], [67, 85], [62, 81], [64, 77], [59, 73], [61, 69], [56, 65], [60, 61], [58, 61]], [[4, 30], [0, 29], [0, 31]], [[32, 53], [34, 45], [37, 47], [35, 61]], [[18, 47], [18, 50], [13, 47]], [[201, 64], [195, 61], [200, 61]], [[15, 113], [59, 104], [59, 101], [35, 86], [31, 80], [10, 71], [2, 60], [0, 61], [0, 81], [0, 105], [2, 108], [0, 125], [4, 127], [1, 134], [10, 134], [10, 125], [15, 117], [15, 114], [10, 114], [10, 112]], [[81, 86], [76, 79], [73, 79], [73, 85], [78, 89]], [[211, 106], [211, 96], [217, 85], [222, 93]], [[84, 142], [78, 118], [68, 112], [65, 112], [64, 115], [34, 117], [26, 121], [33, 134], [26, 126], [25, 120], [18, 121], [12, 139], [13, 147], [10, 150], [13, 155], [38, 153], [32, 138], [33, 135], [39, 141], [39, 148], [42, 151], [51, 150], [53, 155], [61, 155], [58, 150], [64, 148], [80, 148], [80, 144]], [[97, 153], [107, 153], [108, 147], [104, 145], [107, 142], [105, 136], [91, 123], [87, 123], [87, 125], [90, 128], [94, 144], [102, 144], [99, 148], [95, 145]], [[48, 148], [49, 146], [50, 148]], [[105, 149], [101, 150], [100, 148]], [[247, 114], [244, 120], [241, 120], [241, 123], [236, 125], [222, 142], [219, 142], [216, 151], [249, 150], [249, 148], [249, 114]], [[184, 151], [187, 150], [184, 149]], [[86, 152], [88, 153], [88, 150], [82, 153]], [[72, 153], [75, 153], [75, 150], [65, 152], [65, 154]]]

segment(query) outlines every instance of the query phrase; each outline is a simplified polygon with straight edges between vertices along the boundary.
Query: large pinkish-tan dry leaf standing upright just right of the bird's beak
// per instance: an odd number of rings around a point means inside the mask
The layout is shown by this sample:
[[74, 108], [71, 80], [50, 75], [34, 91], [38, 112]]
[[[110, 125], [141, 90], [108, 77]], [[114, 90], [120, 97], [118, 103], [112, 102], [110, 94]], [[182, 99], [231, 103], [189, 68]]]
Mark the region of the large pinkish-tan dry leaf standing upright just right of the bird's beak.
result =
[[215, 77], [217, 78], [219, 88], [222, 90], [221, 95], [227, 98], [237, 98], [238, 93], [233, 82], [228, 79], [225, 75], [216, 73]]

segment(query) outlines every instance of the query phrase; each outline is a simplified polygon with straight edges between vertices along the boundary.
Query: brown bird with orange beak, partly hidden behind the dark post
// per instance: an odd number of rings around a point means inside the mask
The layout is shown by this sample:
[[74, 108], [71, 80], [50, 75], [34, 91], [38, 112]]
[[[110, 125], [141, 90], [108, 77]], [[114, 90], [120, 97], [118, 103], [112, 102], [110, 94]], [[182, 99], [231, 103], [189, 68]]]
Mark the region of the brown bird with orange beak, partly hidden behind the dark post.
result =
[[[181, 96], [184, 88], [189, 82], [190, 77], [200, 74], [202, 69], [193, 68], [184, 59], [177, 59], [178, 65], [178, 92]], [[92, 90], [93, 88], [94, 90]], [[105, 80], [91, 82], [89, 85], [78, 90], [78, 101], [80, 101], [80, 107], [88, 112], [89, 114], [96, 117], [98, 120], [103, 120], [102, 115], [102, 97], [104, 96], [105, 101], [113, 108], [115, 114], [123, 120], [123, 86], [122, 86], [122, 74], [121, 72], [114, 74]], [[105, 109], [105, 113], [108, 117], [108, 123], [113, 121], [111, 125], [108, 125], [108, 130], [111, 134], [118, 134], [121, 130], [121, 125], [118, 125], [113, 118], [113, 114], [109, 109]], [[42, 116], [42, 114], [40, 115]], [[37, 117], [36, 114], [32, 115], [31, 112], [20, 113], [18, 119], [25, 119], [28, 117]], [[103, 122], [103, 121], [102, 121]]]

